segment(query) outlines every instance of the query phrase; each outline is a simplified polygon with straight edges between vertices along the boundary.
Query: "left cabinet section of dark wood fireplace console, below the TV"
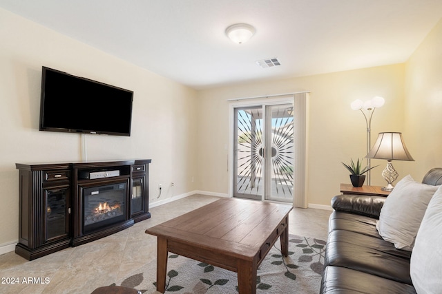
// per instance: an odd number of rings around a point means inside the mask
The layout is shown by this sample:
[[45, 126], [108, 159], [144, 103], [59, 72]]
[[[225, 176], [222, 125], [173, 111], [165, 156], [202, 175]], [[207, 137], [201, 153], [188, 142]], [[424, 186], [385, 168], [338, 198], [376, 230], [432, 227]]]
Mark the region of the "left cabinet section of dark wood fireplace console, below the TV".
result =
[[17, 163], [19, 242], [27, 260], [70, 246], [70, 167], [68, 163]]

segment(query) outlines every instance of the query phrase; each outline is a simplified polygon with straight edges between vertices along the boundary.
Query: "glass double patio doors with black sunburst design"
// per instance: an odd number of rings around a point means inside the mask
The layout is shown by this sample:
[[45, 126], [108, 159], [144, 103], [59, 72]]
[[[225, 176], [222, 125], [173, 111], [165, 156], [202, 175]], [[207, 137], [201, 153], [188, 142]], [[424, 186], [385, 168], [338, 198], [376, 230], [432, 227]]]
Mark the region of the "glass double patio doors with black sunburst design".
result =
[[233, 197], [293, 202], [294, 105], [233, 109]]

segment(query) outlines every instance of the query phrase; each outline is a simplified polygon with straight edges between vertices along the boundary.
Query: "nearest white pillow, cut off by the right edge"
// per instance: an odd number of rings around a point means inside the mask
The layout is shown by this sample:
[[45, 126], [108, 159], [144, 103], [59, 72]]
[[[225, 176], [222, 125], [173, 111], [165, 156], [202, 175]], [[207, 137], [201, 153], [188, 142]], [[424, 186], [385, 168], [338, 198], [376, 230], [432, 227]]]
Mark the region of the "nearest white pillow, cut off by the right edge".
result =
[[442, 186], [423, 217], [412, 252], [410, 275], [417, 293], [442, 291]]

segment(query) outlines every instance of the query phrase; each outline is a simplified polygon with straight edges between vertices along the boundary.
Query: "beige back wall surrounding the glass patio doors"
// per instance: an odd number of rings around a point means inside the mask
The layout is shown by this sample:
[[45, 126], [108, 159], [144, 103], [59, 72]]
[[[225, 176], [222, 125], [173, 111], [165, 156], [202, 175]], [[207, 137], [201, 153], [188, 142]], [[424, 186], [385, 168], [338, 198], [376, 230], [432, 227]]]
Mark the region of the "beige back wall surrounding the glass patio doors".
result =
[[[200, 91], [198, 187], [229, 193], [227, 99], [310, 91], [307, 196], [310, 204], [329, 205], [339, 193], [340, 182], [349, 183], [340, 162], [366, 154], [365, 119], [350, 103], [357, 98], [385, 97], [385, 105], [376, 109], [372, 120], [373, 143], [378, 132], [403, 132], [403, 73], [404, 65], [398, 64]], [[372, 160], [372, 165], [382, 165], [372, 172], [372, 185], [383, 185], [381, 171], [386, 162]], [[399, 174], [409, 172], [401, 162], [395, 166]]]

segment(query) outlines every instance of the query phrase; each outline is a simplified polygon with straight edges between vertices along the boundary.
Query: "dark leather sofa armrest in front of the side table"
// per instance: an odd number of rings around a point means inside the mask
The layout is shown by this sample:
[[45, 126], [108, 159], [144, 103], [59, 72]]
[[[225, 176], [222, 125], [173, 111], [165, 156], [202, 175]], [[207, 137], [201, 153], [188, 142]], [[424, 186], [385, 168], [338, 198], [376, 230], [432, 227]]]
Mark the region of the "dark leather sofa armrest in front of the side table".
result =
[[383, 196], [343, 194], [332, 198], [332, 207], [336, 211], [379, 219], [385, 199]]

